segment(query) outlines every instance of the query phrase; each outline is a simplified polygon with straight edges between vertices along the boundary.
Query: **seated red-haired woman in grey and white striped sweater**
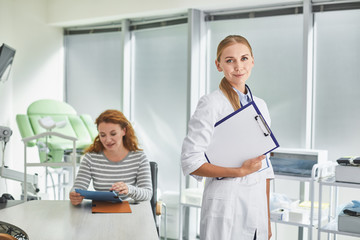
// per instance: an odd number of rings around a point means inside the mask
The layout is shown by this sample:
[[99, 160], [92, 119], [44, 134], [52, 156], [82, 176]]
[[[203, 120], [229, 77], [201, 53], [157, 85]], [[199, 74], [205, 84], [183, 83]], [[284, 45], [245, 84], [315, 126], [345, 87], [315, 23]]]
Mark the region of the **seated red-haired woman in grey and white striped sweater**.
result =
[[135, 201], [150, 200], [150, 165], [131, 123], [117, 110], [106, 110], [95, 123], [99, 135], [85, 151], [69, 195], [71, 203], [82, 202], [84, 197], [74, 189], [87, 190], [91, 180], [97, 191], [113, 190]]

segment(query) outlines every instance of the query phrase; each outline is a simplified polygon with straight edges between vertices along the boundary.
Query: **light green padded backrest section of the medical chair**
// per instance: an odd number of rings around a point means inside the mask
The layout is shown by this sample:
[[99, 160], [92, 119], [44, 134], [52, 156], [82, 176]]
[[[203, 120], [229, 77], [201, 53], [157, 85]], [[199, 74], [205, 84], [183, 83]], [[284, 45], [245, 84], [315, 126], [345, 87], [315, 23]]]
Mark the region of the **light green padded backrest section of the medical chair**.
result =
[[[42, 99], [30, 104], [27, 109], [27, 114], [16, 115], [16, 122], [21, 137], [32, 137], [45, 132], [46, 130], [39, 124], [39, 119], [48, 116], [55, 122], [66, 122], [65, 127], [54, 128], [52, 131], [77, 138], [77, 149], [84, 149], [89, 146], [97, 135], [96, 126], [89, 115], [77, 115], [75, 109], [65, 102], [53, 99]], [[35, 146], [39, 141], [43, 142], [44, 139], [29, 142], [28, 146]], [[61, 161], [64, 150], [72, 149], [72, 147], [71, 141], [54, 136], [48, 139], [48, 148], [50, 151], [53, 151], [51, 155], [55, 162]], [[40, 155], [40, 160], [45, 160], [42, 155]]]

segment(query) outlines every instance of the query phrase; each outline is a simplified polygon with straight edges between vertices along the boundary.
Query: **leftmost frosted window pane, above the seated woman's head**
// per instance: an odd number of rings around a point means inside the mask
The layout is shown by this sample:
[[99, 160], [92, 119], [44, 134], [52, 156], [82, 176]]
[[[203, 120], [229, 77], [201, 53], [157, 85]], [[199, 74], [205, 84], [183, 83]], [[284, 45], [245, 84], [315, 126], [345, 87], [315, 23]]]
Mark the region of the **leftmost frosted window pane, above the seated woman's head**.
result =
[[66, 101], [95, 119], [122, 109], [121, 32], [66, 35]]

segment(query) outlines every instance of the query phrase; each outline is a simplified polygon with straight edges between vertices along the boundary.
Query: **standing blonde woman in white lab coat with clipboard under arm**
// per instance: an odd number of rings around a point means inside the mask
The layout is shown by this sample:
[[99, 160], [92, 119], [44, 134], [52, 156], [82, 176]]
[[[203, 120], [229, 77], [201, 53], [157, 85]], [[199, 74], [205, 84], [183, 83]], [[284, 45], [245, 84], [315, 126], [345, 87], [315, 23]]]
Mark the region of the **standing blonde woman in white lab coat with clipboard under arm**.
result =
[[199, 100], [181, 154], [184, 174], [199, 181], [206, 177], [200, 239], [267, 240], [271, 238], [270, 179], [274, 178], [270, 161], [269, 168], [258, 171], [266, 156], [249, 159], [239, 168], [212, 165], [204, 156], [215, 123], [250, 101], [256, 103], [270, 124], [266, 103], [252, 96], [245, 85], [254, 66], [249, 42], [239, 35], [226, 37], [218, 45], [215, 64], [217, 70], [224, 73], [224, 78], [218, 90]]

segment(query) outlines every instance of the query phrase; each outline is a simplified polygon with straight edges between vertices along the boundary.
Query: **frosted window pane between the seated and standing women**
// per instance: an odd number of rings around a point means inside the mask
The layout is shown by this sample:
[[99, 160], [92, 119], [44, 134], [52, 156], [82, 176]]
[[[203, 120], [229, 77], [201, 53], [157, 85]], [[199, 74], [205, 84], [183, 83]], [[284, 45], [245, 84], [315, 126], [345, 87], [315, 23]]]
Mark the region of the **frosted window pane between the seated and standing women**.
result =
[[178, 191], [187, 128], [187, 25], [132, 34], [135, 130], [149, 160], [159, 164], [159, 188]]

